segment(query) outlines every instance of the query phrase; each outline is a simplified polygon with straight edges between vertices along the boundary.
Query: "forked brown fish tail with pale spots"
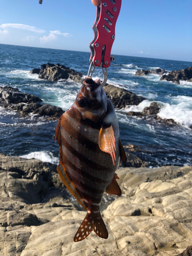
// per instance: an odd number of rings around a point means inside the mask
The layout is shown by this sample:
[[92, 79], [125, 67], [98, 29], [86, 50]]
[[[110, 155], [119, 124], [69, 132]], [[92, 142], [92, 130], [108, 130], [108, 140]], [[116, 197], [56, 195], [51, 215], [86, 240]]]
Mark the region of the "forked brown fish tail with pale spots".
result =
[[101, 217], [100, 210], [97, 214], [94, 212], [92, 214], [92, 212], [88, 210], [87, 215], [77, 230], [73, 241], [82, 241], [89, 236], [91, 231], [94, 231], [100, 238], [108, 238], [108, 230], [106, 229], [104, 221]]

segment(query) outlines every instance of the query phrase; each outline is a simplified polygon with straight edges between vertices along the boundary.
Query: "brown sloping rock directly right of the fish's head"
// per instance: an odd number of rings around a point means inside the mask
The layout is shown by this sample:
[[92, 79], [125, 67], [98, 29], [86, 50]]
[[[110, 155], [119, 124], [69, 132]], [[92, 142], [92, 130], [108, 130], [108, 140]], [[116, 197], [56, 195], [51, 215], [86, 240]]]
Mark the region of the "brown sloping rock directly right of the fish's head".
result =
[[106, 97], [110, 98], [114, 108], [125, 108], [126, 105], [138, 105], [140, 102], [145, 100], [142, 96], [137, 96], [136, 94], [113, 86], [112, 84], [107, 84], [103, 87]]

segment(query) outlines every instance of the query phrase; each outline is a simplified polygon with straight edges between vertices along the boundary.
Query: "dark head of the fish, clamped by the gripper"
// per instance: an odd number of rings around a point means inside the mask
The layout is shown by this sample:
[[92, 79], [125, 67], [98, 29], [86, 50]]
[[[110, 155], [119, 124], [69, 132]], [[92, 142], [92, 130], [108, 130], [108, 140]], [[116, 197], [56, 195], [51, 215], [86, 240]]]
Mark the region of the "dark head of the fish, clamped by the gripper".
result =
[[75, 103], [84, 120], [91, 120], [92, 123], [101, 120], [108, 106], [101, 80], [94, 81], [91, 77], [86, 76], [77, 93]]

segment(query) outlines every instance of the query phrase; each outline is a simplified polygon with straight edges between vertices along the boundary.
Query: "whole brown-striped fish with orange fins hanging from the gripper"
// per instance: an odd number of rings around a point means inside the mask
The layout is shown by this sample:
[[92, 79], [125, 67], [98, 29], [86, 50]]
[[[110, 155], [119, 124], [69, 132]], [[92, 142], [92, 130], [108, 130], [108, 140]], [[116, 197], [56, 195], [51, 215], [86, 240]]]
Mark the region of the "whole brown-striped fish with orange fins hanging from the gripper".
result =
[[119, 138], [119, 126], [111, 100], [100, 79], [86, 77], [75, 102], [61, 115], [55, 132], [60, 163], [57, 172], [87, 215], [74, 242], [87, 238], [91, 231], [103, 239], [108, 230], [100, 213], [104, 191], [121, 195], [115, 173], [119, 159], [126, 155]]

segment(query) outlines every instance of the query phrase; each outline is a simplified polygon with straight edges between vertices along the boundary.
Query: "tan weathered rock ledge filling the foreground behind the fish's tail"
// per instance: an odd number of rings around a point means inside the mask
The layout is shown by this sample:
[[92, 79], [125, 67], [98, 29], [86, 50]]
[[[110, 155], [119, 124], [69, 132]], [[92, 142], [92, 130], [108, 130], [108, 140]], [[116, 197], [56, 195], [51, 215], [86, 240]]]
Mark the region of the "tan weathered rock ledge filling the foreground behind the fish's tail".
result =
[[70, 200], [56, 166], [0, 154], [1, 254], [191, 255], [192, 166], [117, 174], [122, 196], [102, 212], [109, 238], [92, 232], [74, 243], [86, 212]]

